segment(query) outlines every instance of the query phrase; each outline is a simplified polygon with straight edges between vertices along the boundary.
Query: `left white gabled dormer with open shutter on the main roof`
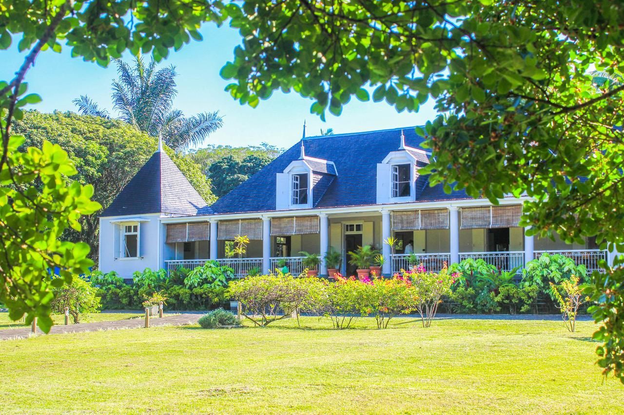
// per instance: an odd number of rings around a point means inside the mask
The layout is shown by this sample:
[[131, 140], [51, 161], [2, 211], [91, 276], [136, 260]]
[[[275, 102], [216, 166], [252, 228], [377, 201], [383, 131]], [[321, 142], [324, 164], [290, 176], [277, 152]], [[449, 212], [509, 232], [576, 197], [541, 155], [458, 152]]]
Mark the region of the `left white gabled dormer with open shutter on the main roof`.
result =
[[338, 176], [338, 171], [334, 162], [306, 156], [303, 140], [301, 140], [299, 159], [292, 161], [283, 173], [277, 173], [276, 209], [314, 207], [336, 176]]

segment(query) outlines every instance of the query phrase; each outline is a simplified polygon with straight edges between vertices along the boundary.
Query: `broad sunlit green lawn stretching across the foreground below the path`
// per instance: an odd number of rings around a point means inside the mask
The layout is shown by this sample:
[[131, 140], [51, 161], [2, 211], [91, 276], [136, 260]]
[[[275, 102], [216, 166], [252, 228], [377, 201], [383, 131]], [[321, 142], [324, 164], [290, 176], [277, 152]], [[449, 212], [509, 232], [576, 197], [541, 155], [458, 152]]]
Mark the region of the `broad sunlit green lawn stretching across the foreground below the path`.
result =
[[97, 413], [622, 413], [578, 322], [363, 318], [0, 342], [0, 408]]

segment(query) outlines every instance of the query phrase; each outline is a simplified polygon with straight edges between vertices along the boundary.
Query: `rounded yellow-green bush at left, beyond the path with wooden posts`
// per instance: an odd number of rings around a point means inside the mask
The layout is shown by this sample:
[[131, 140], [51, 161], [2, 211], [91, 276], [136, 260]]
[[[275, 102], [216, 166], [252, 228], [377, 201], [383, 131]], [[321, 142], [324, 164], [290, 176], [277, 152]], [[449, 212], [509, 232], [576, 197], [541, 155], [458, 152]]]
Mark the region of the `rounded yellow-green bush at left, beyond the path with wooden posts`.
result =
[[95, 295], [97, 289], [83, 277], [74, 277], [71, 284], [54, 288], [54, 300], [51, 302], [53, 313], [65, 313], [69, 307], [69, 314], [78, 323], [83, 313], [99, 313], [100, 298]]

